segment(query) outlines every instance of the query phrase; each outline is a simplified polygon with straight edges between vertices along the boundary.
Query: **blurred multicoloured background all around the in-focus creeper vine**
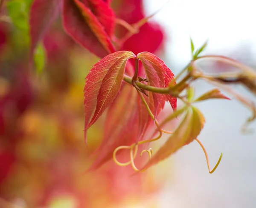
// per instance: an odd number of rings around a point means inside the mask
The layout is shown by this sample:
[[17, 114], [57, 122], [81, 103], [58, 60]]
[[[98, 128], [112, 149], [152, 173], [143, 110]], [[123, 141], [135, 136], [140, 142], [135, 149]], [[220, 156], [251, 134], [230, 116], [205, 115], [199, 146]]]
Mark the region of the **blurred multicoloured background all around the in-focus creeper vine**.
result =
[[[112, 161], [85, 172], [90, 152], [103, 136], [104, 117], [84, 144], [84, 78], [99, 58], [68, 37], [59, 18], [37, 48], [37, 70], [27, 70], [28, 11], [32, 0], [9, 0], [0, 13], [0, 208], [255, 208], [256, 132], [242, 134], [250, 112], [236, 100], [199, 103], [206, 124], [199, 136], [212, 166], [196, 142], [143, 174]], [[120, 50], [149, 51], [174, 74], [195, 48], [209, 40], [204, 54], [219, 54], [256, 68], [254, 3], [249, 0], [113, 0], [116, 16], [128, 23], [162, 8]], [[125, 34], [116, 27], [116, 37]], [[214, 62], [202, 69], [232, 70]], [[194, 84], [196, 95], [212, 88]], [[234, 89], [254, 99], [244, 88]], [[256, 99], [254, 99], [256, 101]], [[170, 109], [167, 108], [167, 111]], [[256, 123], [250, 125], [256, 129]], [[163, 138], [153, 148], [163, 143]]]

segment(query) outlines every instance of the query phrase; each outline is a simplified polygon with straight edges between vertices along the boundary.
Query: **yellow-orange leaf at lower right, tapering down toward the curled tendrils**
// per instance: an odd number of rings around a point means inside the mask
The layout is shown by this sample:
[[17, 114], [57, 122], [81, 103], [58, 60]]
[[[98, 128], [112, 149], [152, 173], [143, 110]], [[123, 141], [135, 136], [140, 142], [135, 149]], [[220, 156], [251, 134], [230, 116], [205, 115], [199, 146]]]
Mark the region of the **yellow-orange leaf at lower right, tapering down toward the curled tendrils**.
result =
[[142, 169], [148, 168], [166, 159], [175, 153], [183, 145], [195, 140], [204, 127], [204, 116], [194, 106], [190, 107], [176, 128], [175, 132], [169, 137], [165, 144], [151, 157]]

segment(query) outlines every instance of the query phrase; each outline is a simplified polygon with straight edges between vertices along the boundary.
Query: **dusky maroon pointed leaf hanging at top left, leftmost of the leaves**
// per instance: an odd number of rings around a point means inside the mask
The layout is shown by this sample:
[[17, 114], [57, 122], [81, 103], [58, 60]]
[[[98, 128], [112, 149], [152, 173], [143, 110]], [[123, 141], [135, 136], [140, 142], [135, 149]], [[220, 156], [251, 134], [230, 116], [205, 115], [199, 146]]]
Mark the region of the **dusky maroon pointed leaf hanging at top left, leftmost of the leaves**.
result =
[[58, 16], [61, 0], [34, 0], [30, 10], [30, 60], [38, 42]]

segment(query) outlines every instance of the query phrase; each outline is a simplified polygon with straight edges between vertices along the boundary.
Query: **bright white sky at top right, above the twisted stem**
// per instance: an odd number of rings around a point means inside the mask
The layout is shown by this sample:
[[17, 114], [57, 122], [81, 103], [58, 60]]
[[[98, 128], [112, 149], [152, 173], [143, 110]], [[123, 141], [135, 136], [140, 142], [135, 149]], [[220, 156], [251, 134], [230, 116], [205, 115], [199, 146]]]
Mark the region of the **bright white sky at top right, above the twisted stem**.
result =
[[[147, 14], [168, 0], [144, 0]], [[256, 2], [254, 0], [170, 0], [154, 19], [169, 33], [166, 45], [172, 65], [190, 59], [189, 36], [195, 48], [209, 39], [207, 51], [227, 55], [241, 43], [256, 48]], [[253, 54], [256, 50], [253, 49]]]

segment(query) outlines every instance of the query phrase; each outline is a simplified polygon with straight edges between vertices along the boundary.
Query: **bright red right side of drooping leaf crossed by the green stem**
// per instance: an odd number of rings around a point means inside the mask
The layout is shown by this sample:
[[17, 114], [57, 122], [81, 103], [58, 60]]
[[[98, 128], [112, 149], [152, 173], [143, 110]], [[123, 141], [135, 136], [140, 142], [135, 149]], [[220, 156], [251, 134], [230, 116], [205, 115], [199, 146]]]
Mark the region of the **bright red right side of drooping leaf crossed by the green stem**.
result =
[[[174, 74], [172, 74], [172, 71], [160, 58], [149, 52], [137, 54], [137, 57], [142, 61], [143, 65], [147, 65], [147, 68], [150, 68], [151, 66], [154, 68], [160, 79], [160, 87], [169, 86], [169, 83], [174, 79]], [[145, 62], [145, 60], [147, 60], [147, 62]], [[148, 66], [148, 64], [151, 66]], [[176, 85], [176, 82], [173, 82], [173, 84]], [[172, 109], [175, 110], [177, 107], [177, 98], [170, 95], [166, 95], [166, 97], [169, 100]]]

